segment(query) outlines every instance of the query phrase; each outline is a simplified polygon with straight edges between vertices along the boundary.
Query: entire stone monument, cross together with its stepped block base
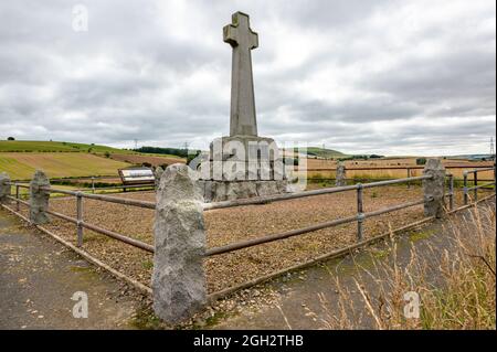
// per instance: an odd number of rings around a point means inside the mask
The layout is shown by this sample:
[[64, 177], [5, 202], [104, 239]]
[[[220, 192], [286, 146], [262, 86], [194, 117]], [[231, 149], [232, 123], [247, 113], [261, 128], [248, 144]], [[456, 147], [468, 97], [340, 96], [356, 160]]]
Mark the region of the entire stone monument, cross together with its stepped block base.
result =
[[260, 137], [255, 114], [251, 51], [258, 46], [248, 15], [236, 12], [223, 29], [233, 50], [231, 73], [230, 136], [214, 139], [201, 162], [207, 202], [285, 193], [283, 159], [272, 138]]

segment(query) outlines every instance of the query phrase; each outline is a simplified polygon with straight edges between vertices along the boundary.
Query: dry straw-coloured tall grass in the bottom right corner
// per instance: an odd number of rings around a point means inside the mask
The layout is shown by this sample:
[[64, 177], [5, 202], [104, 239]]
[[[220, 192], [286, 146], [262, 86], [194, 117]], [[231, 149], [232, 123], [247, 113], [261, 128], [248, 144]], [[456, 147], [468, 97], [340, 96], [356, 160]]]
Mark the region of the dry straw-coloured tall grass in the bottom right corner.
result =
[[[318, 295], [324, 329], [496, 329], [496, 214], [495, 205], [468, 211], [448, 221], [441, 248], [411, 248], [408, 264], [400, 265], [396, 244], [389, 260], [376, 260], [373, 269], [343, 285], [336, 279], [335, 309]], [[421, 299], [419, 318], [406, 318], [405, 294]], [[359, 298], [358, 298], [359, 297]], [[358, 302], [360, 305], [358, 305]], [[358, 307], [360, 306], [360, 307]], [[316, 319], [318, 314], [308, 312]]]

